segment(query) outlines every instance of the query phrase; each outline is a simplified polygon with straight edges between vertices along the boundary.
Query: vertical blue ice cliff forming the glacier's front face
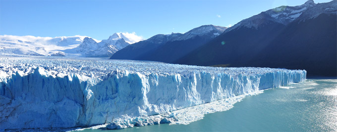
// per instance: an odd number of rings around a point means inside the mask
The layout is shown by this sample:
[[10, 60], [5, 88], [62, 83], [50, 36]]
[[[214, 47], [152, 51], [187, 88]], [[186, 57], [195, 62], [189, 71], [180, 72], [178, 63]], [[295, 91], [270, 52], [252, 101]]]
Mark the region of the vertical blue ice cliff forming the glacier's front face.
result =
[[[181, 65], [180, 65], [181, 66]], [[245, 68], [225, 72], [133, 72], [113, 69], [103, 77], [43, 67], [0, 71], [0, 127], [71, 128], [111, 123], [122, 115], [155, 115], [306, 79], [305, 70]], [[1, 73], [2, 72], [2, 73]], [[5, 76], [7, 75], [7, 76]]]

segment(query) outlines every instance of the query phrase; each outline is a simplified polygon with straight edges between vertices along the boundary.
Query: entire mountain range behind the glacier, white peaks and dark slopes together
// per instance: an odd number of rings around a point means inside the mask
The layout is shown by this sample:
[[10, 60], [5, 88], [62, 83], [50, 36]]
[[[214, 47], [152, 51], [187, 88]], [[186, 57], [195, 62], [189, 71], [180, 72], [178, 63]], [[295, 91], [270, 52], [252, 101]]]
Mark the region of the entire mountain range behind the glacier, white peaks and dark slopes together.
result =
[[305, 69], [308, 76], [337, 76], [337, 0], [280, 6], [232, 27], [203, 25], [147, 40], [115, 33], [86, 36], [0, 36], [0, 54], [110, 57], [217, 67]]

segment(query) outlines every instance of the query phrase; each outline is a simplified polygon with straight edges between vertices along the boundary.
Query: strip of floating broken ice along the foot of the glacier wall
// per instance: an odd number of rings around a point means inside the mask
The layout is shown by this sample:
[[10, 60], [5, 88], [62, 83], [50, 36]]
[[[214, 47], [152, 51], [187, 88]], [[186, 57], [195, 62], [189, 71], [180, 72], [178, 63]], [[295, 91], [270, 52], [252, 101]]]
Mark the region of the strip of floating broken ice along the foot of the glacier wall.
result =
[[107, 129], [126, 129], [132, 127], [143, 127], [147, 125], [158, 124], [182, 124], [189, 123], [203, 119], [204, 115], [215, 113], [219, 111], [226, 111], [233, 108], [236, 102], [240, 102], [245, 96], [256, 95], [263, 93], [264, 90], [255, 91], [248, 94], [238, 95], [230, 98], [225, 98], [210, 103], [200, 104], [193, 107], [183, 108], [154, 116], [129, 117], [127, 115], [122, 118], [117, 118], [111, 124], [102, 126]]

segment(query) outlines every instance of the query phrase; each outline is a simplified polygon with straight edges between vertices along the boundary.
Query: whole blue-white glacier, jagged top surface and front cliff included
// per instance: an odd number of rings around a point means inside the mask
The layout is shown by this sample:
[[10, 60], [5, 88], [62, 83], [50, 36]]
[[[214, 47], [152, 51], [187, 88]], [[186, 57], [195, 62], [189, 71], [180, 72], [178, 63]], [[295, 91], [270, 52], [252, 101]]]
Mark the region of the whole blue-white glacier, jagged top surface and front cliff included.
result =
[[163, 113], [304, 80], [305, 70], [0, 57], [0, 129], [113, 128], [139, 117], [169, 123], [178, 116]]

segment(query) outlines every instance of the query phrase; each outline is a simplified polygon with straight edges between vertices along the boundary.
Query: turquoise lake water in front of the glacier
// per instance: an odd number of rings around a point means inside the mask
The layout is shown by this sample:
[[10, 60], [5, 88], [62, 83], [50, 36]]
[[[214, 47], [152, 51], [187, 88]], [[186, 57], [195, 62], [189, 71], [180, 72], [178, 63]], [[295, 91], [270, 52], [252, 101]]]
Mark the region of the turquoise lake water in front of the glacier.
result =
[[[289, 88], [293, 87], [293, 88]], [[123, 130], [171, 131], [333, 131], [337, 132], [337, 80], [307, 80], [247, 96], [228, 111], [205, 115], [188, 125], [153, 125]]]

